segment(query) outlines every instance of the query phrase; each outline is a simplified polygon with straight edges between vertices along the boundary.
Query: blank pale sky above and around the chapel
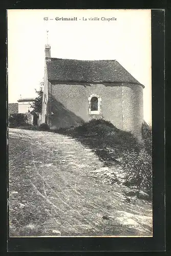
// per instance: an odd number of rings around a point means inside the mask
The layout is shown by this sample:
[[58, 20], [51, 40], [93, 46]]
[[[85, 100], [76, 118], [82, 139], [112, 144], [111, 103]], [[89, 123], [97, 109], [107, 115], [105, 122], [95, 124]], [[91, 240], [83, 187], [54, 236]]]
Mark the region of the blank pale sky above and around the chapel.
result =
[[[77, 20], [56, 20], [56, 17]], [[37, 96], [35, 89], [44, 80], [48, 42], [51, 57], [116, 59], [145, 86], [144, 120], [152, 123], [151, 10], [13, 9], [8, 10], [7, 21], [9, 103], [17, 102], [20, 97]]]

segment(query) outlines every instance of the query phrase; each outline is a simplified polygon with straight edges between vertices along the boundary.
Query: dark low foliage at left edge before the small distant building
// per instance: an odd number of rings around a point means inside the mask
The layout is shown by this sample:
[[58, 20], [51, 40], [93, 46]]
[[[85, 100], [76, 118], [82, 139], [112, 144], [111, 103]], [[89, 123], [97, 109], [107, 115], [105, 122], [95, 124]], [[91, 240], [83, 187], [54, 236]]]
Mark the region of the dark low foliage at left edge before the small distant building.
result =
[[16, 127], [20, 125], [28, 125], [27, 124], [27, 116], [23, 113], [11, 114], [9, 116], [9, 126]]

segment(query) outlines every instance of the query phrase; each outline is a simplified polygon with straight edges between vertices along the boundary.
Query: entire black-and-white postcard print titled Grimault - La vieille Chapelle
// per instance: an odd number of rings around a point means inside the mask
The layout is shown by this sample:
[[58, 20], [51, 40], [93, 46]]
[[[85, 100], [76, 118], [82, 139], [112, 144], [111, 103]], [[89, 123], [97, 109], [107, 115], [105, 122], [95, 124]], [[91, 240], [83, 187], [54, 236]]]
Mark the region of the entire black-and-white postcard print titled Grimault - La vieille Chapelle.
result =
[[9, 237], [153, 237], [151, 10], [7, 27]]

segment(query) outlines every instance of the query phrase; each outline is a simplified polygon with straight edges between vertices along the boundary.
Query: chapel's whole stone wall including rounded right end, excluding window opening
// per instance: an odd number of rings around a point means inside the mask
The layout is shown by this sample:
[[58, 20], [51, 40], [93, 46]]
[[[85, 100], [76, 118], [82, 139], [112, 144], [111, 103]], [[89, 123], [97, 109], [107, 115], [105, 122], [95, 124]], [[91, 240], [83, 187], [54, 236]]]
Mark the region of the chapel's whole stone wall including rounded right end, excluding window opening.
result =
[[[143, 88], [137, 84], [51, 84], [48, 82], [48, 124], [51, 128], [80, 125], [104, 118], [118, 129], [141, 136]], [[51, 96], [50, 96], [51, 95]], [[100, 114], [90, 114], [90, 96], [99, 95]]]

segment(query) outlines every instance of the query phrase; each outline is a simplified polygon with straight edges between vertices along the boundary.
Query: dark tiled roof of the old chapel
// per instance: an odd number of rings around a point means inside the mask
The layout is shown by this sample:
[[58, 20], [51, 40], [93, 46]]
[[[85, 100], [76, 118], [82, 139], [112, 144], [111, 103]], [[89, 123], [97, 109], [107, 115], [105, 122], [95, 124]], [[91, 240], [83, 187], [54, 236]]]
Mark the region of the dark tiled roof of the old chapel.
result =
[[47, 58], [47, 67], [49, 81], [140, 84], [117, 60]]

